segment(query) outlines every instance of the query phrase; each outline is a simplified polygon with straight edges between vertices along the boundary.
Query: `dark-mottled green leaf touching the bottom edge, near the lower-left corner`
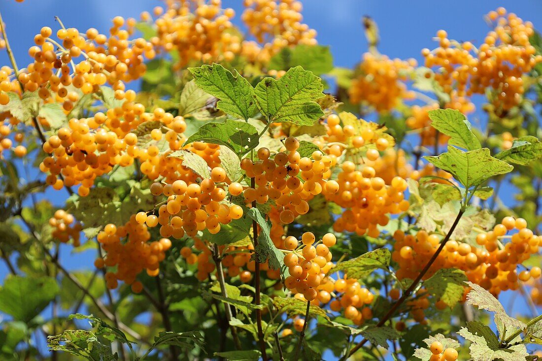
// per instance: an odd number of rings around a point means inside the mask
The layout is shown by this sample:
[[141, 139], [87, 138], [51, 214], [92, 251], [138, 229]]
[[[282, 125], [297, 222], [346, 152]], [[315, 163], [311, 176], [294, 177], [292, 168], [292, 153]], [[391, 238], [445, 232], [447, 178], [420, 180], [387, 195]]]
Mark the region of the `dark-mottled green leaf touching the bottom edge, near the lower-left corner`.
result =
[[111, 354], [110, 346], [98, 341], [96, 335], [85, 330], [66, 330], [56, 336], [47, 337], [51, 351], [63, 351], [90, 361], [117, 360], [117, 353]]

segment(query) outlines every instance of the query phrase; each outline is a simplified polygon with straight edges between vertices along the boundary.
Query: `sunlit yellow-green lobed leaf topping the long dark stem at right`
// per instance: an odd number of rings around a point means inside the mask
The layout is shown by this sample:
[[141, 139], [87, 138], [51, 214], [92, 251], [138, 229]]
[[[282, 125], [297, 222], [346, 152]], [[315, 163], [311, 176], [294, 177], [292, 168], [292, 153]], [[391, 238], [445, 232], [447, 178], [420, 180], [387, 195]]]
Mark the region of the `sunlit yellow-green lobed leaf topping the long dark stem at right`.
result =
[[450, 172], [467, 189], [480, 185], [495, 175], [508, 173], [514, 168], [502, 160], [493, 158], [487, 148], [463, 152], [448, 146], [448, 152], [424, 158], [440, 169]]

